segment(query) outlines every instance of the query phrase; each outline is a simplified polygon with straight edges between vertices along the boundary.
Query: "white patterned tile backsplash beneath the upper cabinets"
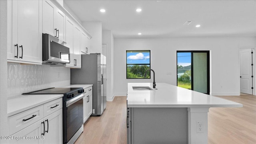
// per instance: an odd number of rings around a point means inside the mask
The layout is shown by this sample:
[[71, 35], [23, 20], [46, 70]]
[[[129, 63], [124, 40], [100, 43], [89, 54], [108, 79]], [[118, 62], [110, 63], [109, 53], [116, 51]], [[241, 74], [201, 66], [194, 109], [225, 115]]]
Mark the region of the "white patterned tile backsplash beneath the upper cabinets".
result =
[[8, 63], [8, 99], [22, 93], [70, 85], [70, 68]]

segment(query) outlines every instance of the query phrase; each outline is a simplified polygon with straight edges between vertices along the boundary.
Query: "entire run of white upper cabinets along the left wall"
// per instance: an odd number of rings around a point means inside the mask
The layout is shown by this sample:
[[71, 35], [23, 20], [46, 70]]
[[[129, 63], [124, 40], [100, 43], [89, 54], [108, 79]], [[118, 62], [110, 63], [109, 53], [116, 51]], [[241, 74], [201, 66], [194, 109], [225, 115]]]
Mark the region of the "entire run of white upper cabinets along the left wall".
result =
[[[56, 0], [7, 0], [7, 62], [42, 64], [42, 33], [70, 46], [70, 64], [81, 68], [92, 38]], [[81, 52], [82, 51], [82, 52]]]

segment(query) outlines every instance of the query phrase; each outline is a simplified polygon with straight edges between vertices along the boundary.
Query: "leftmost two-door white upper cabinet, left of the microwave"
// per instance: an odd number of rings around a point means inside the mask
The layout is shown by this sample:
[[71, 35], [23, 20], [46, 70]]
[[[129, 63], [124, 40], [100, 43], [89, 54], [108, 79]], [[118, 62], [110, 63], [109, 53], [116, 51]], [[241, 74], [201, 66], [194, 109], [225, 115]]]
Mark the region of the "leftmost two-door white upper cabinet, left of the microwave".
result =
[[7, 2], [7, 61], [42, 64], [42, 1]]

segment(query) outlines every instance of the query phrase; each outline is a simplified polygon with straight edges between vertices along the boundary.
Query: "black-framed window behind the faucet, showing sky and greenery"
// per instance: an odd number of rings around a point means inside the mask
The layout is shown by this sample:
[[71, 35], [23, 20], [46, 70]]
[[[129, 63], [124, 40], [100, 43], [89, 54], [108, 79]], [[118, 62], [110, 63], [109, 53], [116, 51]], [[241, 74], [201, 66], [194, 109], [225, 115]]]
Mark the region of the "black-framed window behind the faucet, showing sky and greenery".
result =
[[150, 50], [147, 51], [126, 51], [126, 78], [148, 78], [150, 79], [150, 72], [145, 71], [150, 69]]

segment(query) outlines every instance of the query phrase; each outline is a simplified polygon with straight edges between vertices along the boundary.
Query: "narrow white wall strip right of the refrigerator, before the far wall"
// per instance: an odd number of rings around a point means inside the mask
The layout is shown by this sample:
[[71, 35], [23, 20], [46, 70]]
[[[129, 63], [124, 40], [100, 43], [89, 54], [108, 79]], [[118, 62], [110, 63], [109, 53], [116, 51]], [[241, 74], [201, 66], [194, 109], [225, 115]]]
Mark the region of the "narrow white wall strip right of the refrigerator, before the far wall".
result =
[[112, 32], [109, 30], [102, 31], [102, 43], [107, 44], [107, 101], [113, 101], [113, 48], [114, 38]]

